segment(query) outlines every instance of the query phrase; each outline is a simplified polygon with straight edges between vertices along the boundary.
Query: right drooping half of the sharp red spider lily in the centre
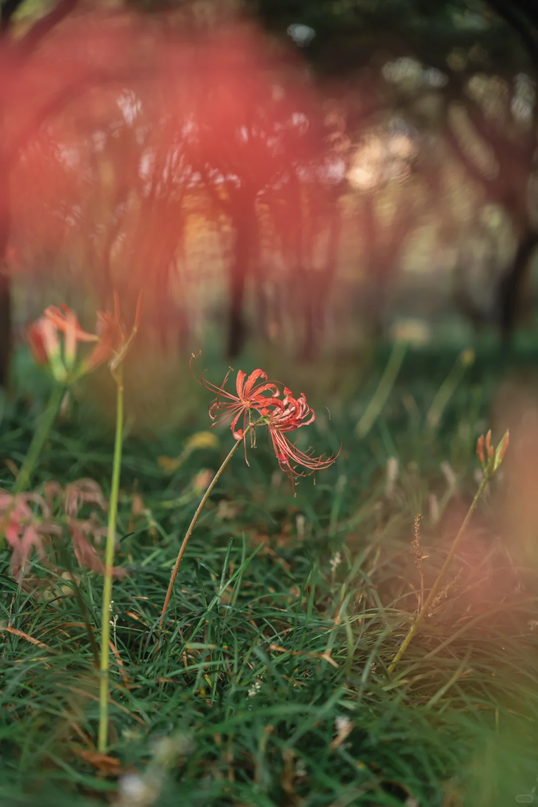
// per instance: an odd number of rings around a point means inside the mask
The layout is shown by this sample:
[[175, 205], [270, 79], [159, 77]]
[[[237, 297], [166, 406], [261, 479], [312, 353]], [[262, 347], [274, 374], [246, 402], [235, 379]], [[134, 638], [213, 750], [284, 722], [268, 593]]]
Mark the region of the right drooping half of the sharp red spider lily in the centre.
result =
[[[308, 406], [307, 398], [302, 392], [298, 398], [294, 398], [291, 390], [284, 388], [283, 407], [280, 410], [273, 409], [267, 412], [267, 429], [273, 442], [274, 453], [277, 456], [278, 465], [290, 477], [294, 486], [294, 479], [297, 476], [308, 476], [316, 470], [328, 468], [335, 462], [338, 454], [334, 457], [326, 457], [324, 454], [313, 457], [297, 448], [294, 443], [286, 437], [287, 432], [294, 432], [302, 426], [308, 426], [315, 420], [315, 412]], [[307, 471], [299, 472], [296, 466], [302, 466]]]

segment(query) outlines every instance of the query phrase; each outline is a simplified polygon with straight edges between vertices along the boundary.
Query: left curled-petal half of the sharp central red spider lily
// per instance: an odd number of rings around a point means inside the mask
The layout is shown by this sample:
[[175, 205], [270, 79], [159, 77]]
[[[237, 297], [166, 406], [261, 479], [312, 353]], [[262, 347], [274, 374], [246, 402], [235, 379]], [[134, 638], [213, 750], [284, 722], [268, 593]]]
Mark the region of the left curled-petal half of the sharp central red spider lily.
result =
[[[206, 381], [203, 373], [199, 374], [197, 372], [194, 353], [190, 359], [190, 371], [198, 383], [202, 384], [202, 387], [211, 392], [216, 392], [217, 397], [209, 406], [209, 416], [211, 420], [215, 420], [215, 425], [225, 423], [231, 418], [230, 428], [235, 440], [244, 438], [247, 421], [250, 422], [249, 413], [252, 409], [260, 414], [267, 414], [269, 407], [282, 408], [282, 401], [278, 399], [280, 390], [275, 383], [267, 382], [267, 374], [263, 370], [253, 370], [248, 376], [243, 370], [239, 370], [236, 378], [237, 395], [224, 389], [228, 376], [232, 372], [231, 368], [227, 371], [220, 387]], [[241, 416], [243, 416], [243, 428], [237, 429], [236, 426]]]

